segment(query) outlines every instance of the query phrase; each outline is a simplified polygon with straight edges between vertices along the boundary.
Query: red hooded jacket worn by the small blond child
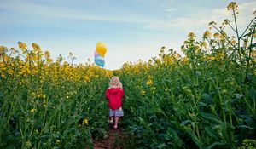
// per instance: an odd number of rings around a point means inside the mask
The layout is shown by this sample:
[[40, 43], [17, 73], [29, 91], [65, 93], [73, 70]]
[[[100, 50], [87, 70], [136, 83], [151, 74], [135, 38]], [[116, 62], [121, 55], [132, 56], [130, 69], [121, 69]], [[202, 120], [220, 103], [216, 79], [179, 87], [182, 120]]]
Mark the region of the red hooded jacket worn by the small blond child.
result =
[[122, 106], [122, 97], [125, 92], [121, 88], [106, 89], [106, 97], [108, 99], [108, 107], [111, 109], [119, 109]]

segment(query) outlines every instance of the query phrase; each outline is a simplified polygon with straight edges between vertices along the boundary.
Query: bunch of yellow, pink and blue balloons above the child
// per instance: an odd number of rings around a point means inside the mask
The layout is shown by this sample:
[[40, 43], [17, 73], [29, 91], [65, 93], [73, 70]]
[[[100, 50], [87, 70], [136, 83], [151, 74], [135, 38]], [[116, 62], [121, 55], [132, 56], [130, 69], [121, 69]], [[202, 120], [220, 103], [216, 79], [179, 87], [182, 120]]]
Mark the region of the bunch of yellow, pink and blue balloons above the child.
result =
[[96, 51], [94, 52], [94, 61], [97, 66], [102, 66], [104, 67], [105, 65], [105, 54], [107, 52], [107, 48], [105, 43], [103, 42], [98, 42], [96, 43]]

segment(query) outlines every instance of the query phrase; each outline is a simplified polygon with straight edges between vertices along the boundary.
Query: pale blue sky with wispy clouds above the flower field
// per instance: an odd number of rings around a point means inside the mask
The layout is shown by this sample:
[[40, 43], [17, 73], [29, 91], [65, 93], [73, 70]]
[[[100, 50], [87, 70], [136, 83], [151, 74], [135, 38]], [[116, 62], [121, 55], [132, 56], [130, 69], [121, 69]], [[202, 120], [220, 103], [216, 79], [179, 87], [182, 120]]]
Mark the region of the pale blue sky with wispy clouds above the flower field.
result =
[[[256, 0], [237, 0], [239, 30], [253, 19]], [[55, 60], [72, 52], [76, 64], [93, 63], [96, 43], [107, 46], [104, 68], [148, 61], [160, 48], [180, 47], [189, 32], [200, 40], [208, 23], [231, 20], [228, 0], [0, 0], [0, 45], [24, 42], [49, 50]], [[231, 22], [234, 23], [234, 22]], [[215, 32], [215, 31], [212, 31]]]

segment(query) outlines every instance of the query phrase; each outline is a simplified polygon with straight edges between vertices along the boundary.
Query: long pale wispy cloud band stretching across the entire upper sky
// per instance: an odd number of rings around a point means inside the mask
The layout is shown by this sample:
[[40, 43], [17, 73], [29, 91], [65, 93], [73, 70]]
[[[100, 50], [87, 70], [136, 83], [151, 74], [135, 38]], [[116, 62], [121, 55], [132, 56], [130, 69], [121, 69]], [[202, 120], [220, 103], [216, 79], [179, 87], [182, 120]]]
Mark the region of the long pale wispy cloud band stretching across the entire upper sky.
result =
[[[168, 3], [160, 3], [160, 5], [173, 5], [174, 1]], [[256, 1], [241, 3], [239, 5], [241, 24], [247, 22], [248, 16], [252, 16], [253, 7]], [[163, 7], [163, 6], [162, 6]], [[231, 14], [225, 7], [223, 9], [203, 9], [198, 12], [194, 9], [193, 14], [177, 17], [177, 8], [166, 8], [166, 19], [152, 18], [150, 14], [137, 14], [137, 12], [119, 12], [115, 14], [97, 14], [86, 9], [74, 9], [68, 6], [58, 7], [56, 5], [46, 5], [35, 3], [35, 1], [1, 1], [0, 8], [10, 9], [28, 14], [42, 14], [48, 17], [71, 19], [71, 20], [96, 20], [96, 21], [113, 21], [140, 24], [146, 29], [155, 31], [171, 31], [171, 30], [192, 30], [197, 27], [206, 26], [210, 21], [222, 22], [226, 18], [230, 18]], [[30, 9], [28, 9], [30, 8]], [[109, 8], [110, 9], [110, 8]]]

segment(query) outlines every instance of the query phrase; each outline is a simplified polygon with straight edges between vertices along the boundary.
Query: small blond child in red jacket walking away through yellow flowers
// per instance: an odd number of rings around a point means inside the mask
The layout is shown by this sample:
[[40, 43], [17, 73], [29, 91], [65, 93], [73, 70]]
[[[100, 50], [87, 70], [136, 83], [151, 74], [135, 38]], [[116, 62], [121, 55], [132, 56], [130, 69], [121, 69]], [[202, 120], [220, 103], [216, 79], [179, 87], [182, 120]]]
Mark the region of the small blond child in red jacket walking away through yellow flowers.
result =
[[[106, 97], [109, 108], [109, 123], [113, 124], [113, 129], [118, 129], [119, 117], [124, 116], [122, 110], [122, 97], [125, 95], [123, 85], [119, 77], [112, 77], [108, 89], [106, 89]], [[114, 122], [113, 122], [114, 119]]]

